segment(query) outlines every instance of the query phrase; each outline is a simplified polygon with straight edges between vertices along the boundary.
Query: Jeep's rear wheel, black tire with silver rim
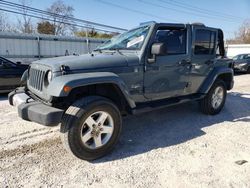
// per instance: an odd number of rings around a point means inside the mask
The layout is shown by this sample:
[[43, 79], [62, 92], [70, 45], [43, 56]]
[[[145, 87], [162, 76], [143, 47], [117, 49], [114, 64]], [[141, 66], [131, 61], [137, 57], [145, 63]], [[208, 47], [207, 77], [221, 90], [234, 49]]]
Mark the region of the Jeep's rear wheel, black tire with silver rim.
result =
[[[219, 97], [217, 96], [213, 99], [213, 96], [215, 95], [216, 91], [219, 92]], [[216, 115], [220, 113], [220, 111], [224, 107], [226, 96], [227, 89], [225, 82], [223, 82], [222, 80], [216, 80], [207, 95], [205, 96], [205, 98], [200, 101], [201, 111], [207, 115]]]

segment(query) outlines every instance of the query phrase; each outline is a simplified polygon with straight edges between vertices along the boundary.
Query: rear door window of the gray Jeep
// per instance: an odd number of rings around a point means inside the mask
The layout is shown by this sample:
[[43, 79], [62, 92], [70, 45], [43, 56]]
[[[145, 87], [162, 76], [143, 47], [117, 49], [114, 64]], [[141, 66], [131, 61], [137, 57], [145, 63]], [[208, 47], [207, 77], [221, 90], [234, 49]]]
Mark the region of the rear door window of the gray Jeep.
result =
[[212, 55], [215, 50], [214, 31], [197, 29], [195, 34], [194, 54], [195, 55]]

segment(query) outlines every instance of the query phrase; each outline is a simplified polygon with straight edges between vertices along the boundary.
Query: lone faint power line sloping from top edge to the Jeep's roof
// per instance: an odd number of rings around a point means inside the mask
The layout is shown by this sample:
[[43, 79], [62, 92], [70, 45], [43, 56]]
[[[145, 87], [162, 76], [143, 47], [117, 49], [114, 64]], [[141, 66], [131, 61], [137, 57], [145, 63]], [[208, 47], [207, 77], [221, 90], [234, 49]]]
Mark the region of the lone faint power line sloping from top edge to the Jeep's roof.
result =
[[107, 1], [104, 1], [104, 0], [95, 0], [95, 1], [97, 1], [99, 3], [102, 3], [102, 4], [112, 6], [112, 7], [120, 8], [120, 9], [123, 9], [123, 10], [126, 10], [126, 11], [134, 12], [134, 13], [137, 13], [137, 14], [141, 14], [141, 15], [145, 15], [145, 16], [149, 16], [149, 17], [154, 17], [154, 18], [158, 18], [158, 19], [164, 19], [164, 20], [179, 22], [178, 20], [169, 19], [169, 18], [166, 18], [166, 17], [157, 16], [155, 14], [143, 12], [143, 11], [140, 11], [140, 10], [127, 8], [127, 7], [124, 7], [124, 6], [115, 4], [115, 3], [111, 3], [111, 2], [107, 2]]

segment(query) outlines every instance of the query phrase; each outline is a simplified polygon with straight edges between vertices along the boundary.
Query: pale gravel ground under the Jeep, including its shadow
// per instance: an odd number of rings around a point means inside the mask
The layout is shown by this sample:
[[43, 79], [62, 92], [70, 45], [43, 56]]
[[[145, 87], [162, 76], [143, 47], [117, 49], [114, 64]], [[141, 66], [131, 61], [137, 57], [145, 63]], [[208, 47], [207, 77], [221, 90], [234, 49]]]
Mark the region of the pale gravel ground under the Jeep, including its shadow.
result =
[[1, 96], [0, 186], [250, 187], [249, 80], [235, 76], [217, 116], [188, 103], [125, 118], [116, 149], [91, 163], [64, 150], [58, 127], [20, 120]]

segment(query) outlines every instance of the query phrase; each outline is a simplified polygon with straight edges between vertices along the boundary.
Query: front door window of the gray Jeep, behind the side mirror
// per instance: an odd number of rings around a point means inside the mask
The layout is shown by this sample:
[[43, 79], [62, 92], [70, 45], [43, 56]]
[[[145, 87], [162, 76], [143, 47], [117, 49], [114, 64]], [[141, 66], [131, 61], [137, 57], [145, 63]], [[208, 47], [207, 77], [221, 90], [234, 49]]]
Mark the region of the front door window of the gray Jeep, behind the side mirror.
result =
[[185, 54], [187, 32], [184, 29], [159, 29], [156, 32], [155, 42], [166, 43], [168, 55]]

